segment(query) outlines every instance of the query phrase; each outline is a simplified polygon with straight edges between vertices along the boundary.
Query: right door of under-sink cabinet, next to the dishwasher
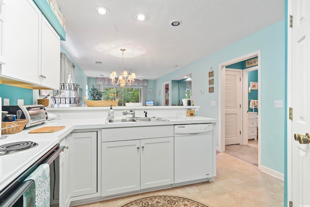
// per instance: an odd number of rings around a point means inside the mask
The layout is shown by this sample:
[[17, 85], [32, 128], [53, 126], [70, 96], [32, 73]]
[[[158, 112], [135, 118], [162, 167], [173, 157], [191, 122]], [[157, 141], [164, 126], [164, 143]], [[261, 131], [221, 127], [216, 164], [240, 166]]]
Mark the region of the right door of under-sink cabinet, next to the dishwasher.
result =
[[143, 139], [141, 142], [141, 189], [172, 184], [173, 137]]

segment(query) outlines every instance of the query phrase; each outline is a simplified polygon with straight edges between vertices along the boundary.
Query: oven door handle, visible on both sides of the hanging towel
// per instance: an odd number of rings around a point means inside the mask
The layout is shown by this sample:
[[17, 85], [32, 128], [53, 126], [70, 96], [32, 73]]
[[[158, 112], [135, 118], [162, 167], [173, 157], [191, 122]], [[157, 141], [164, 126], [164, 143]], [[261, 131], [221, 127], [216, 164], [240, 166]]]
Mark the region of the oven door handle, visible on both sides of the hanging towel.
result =
[[[57, 156], [65, 149], [65, 146], [60, 146], [53, 154], [50, 155], [50, 157], [44, 161], [42, 164], [47, 163], [51, 164]], [[16, 203], [16, 201], [24, 194], [27, 189], [31, 186], [31, 184], [34, 182], [34, 180], [26, 180], [24, 181], [17, 189], [14, 191], [9, 197], [7, 197], [2, 204], [0, 204], [0, 207], [13, 207], [13, 205]]]

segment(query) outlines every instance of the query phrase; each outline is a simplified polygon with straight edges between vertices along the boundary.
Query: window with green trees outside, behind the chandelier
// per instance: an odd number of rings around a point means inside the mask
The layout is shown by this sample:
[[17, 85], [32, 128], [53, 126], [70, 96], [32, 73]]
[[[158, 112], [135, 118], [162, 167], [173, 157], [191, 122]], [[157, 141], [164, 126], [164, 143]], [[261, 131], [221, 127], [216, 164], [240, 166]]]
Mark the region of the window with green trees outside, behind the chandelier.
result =
[[103, 87], [102, 100], [115, 100], [119, 98], [118, 106], [125, 106], [125, 103], [139, 103], [142, 88], [115, 88], [115, 87]]

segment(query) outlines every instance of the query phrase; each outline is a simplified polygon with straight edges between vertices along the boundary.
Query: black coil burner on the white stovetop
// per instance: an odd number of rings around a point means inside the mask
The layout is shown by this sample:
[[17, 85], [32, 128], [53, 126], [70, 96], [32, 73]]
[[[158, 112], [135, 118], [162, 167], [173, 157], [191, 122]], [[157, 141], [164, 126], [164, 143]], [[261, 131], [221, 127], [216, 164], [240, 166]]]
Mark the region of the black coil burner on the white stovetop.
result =
[[31, 147], [35, 147], [37, 145], [38, 143], [31, 142], [31, 141], [3, 144], [3, 145], [0, 145], [0, 155], [19, 152], [22, 150], [30, 149]]

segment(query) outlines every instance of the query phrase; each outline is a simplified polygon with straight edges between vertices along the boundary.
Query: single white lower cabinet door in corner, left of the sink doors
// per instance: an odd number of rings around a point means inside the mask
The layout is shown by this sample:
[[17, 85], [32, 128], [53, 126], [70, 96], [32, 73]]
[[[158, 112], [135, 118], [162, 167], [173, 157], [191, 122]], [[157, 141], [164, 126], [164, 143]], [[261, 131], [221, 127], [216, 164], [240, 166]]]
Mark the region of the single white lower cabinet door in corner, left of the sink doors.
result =
[[71, 145], [71, 196], [96, 193], [97, 132], [71, 133]]

